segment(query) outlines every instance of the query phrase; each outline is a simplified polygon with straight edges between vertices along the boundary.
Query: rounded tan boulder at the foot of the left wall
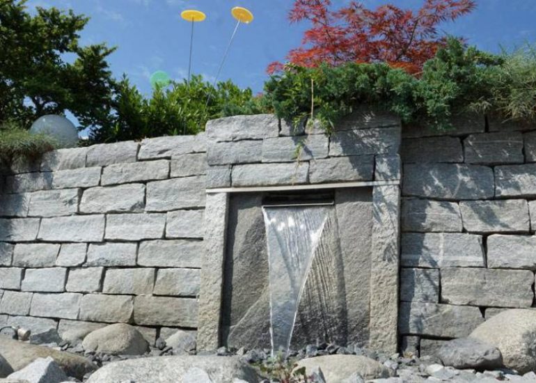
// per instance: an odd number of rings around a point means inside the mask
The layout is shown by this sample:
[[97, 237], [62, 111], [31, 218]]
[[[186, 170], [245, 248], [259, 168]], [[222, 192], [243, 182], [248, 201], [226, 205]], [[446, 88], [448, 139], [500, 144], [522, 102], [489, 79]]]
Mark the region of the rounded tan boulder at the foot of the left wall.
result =
[[149, 343], [130, 325], [116, 323], [88, 334], [82, 342], [87, 351], [113, 355], [141, 355], [149, 351]]

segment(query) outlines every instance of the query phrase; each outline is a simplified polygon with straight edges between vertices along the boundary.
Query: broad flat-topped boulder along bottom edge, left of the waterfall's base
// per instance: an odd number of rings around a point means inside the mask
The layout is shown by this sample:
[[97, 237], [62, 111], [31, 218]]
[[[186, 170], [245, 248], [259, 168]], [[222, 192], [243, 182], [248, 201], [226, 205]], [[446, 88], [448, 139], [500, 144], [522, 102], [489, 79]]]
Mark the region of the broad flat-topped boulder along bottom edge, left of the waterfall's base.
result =
[[233, 379], [258, 383], [255, 370], [239, 357], [153, 357], [116, 361], [97, 370], [86, 383], [123, 382], [167, 383], [184, 382], [184, 377], [203, 370], [212, 382], [232, 382]]

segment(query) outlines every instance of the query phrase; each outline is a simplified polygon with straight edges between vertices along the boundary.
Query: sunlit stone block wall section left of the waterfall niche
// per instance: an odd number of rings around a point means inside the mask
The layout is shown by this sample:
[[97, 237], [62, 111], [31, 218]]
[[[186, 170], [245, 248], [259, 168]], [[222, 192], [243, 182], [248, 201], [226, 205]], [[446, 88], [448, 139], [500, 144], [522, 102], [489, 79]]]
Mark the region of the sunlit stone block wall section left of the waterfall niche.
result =
[[197, 327], [205, 137], [47, 153], [0, 176], [0, 327]]

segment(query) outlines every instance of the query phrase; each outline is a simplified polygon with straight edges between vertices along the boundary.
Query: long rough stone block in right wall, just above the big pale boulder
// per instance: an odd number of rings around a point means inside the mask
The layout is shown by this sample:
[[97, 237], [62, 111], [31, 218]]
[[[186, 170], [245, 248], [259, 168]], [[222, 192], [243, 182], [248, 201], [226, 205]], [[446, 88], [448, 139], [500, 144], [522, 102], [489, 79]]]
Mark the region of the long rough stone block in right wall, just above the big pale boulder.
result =
[[534, 274], [529, 270], [441, 269], [441, 302], [473, 306], [530, 307]]

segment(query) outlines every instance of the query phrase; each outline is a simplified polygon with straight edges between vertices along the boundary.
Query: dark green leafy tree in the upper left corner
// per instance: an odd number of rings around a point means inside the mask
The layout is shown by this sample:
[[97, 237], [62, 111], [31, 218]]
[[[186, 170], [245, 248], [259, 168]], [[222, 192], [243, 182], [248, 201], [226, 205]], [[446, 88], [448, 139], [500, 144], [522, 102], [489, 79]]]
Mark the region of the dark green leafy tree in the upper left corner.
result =
[[79, 45], [87, 17], [39, 7], [30, 15], [25, 2], [0, 0], [0, 122], [29, 127], [67, 109], [84, 126], [107, 123], [113, 79], [106, 58], [114, 49]]

